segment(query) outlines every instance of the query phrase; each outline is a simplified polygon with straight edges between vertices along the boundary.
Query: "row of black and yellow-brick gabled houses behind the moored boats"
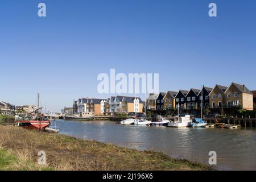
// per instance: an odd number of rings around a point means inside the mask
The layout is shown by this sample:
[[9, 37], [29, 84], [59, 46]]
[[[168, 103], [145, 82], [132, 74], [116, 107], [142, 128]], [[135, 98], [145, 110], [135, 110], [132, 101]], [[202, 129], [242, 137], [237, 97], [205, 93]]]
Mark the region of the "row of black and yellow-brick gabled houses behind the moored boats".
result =
[[151, 93], [146, 106], [149, 110], [175, 110], [179, 107], [191, 113], [203, 107], [214, 114], [236, 114], [238, 109], [255, 108], [255, 94], [255, 91], [251, 92], [245, 85], [232, 82], [229, 86], [203, 86], [201, 89]]

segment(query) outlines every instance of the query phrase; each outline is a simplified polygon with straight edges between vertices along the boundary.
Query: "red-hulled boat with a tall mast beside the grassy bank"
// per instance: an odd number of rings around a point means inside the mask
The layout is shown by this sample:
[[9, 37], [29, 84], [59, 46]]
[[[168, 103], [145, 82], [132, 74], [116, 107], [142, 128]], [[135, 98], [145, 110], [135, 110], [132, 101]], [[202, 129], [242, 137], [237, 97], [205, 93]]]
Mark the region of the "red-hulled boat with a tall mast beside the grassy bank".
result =
[[44, 117], [44, 114], [41, 114], [41, 109], [43, 107], [39, 107], [39, 92], [37, 96], [37, 107], [36, 110], [27, 114], [24, 119], [18, 120], [19, 127], [23, 127], [25, 129], [32, 129], [38, 131], [44, 131], [46, 127], [51, 125], [51, 121]]

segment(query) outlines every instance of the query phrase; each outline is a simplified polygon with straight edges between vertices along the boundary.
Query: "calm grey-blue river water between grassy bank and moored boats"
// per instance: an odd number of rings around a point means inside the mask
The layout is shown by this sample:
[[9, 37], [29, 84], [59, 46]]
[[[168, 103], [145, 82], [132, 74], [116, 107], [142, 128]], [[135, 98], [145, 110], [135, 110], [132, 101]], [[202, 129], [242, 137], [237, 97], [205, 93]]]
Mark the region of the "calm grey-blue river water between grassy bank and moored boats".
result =
[[60, 134], [114, 143], [138, 150], [154, 149], [176, 158], [208, 163], [217, 152], [217, 169], [256, 170], [256, 130], [123, 126], [113, 122], [56, 121]]

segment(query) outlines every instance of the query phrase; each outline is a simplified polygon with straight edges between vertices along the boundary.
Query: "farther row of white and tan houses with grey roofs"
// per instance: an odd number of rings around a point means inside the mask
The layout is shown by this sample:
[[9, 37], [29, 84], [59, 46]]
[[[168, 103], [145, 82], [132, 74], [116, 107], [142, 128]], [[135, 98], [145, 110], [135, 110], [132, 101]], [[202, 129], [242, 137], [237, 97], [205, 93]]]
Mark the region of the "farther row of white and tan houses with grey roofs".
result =
[[144, 102], [139, 97], [113, 96], [108, 99], [79, 98], [73, 102], [73, 113], [93, 113], [104, 115], [112, 113], [142, 113]]

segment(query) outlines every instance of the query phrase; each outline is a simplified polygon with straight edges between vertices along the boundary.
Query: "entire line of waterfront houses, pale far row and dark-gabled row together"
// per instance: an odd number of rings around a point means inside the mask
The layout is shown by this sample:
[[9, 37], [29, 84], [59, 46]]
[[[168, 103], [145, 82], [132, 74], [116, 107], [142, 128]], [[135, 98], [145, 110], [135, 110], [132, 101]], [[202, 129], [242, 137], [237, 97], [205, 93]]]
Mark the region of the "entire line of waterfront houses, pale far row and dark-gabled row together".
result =
[[[179, 90], [151, 93], [146, 103], [139, 97], [113, 96], [108, 99], [79, 98], [73, 102], [73, 114], [93, 113], [105, 115], [112, 113], [143, 113], [151, 111], [176, 110], [196, 114], [201, 109], [209, 109], [214, 114], [236, 114], [238, 109], [255, 108], [256, 91], [250, 91], [245, 85], [232, 82], [229, 86], [203, 86], [201, 89]], [[203, 105], [202, 105], [203, 104]]]

